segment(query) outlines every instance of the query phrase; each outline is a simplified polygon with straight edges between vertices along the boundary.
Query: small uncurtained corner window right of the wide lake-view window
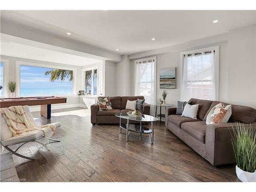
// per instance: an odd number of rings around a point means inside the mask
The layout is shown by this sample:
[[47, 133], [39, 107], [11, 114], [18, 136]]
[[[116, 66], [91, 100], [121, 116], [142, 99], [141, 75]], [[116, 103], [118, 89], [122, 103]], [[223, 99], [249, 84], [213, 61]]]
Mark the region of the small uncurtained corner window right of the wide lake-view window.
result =
[[84, 71], [84, 93], [86, 95], [97, 95], [98, 86], [98, 70], [87, 70]]

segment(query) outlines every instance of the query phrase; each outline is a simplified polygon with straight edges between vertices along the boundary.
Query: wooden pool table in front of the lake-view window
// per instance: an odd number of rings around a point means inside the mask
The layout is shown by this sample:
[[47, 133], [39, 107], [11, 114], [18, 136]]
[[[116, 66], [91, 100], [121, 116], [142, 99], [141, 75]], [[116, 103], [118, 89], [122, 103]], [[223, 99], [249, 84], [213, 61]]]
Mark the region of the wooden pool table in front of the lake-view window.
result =
[[19, 97], [0, 99], [0, 108], [9, 108], [17, 105], [41, 105], [41, 116], [51, 118], [51, 104], [66, 103], [66, 97]]

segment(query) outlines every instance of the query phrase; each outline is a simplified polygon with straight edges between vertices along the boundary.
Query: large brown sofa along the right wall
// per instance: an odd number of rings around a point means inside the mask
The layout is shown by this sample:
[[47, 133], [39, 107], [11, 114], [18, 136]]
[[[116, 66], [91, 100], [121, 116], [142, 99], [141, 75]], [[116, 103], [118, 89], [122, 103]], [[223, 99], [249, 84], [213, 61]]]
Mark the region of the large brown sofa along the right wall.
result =
[[176, 108], [169, 108], [166, 111], [165, 126], [212, 165], [235, 163], [230, 131], [236, 129], [234, 122], [256, 125], [256, 110], [249, 106], [232, 104], [232, 115], [228, 123], [206, 125], [207, 114], [220, 101], [194, 98], [189, 101], [200, 104], [198, 119], [176, 115]]

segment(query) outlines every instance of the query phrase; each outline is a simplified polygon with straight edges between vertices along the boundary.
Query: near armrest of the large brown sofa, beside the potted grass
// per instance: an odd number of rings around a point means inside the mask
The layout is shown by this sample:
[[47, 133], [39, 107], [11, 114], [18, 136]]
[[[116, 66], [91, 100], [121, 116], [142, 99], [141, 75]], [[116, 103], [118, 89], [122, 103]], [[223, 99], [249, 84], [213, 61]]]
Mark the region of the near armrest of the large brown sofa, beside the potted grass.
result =
[[205, 157], [212, 165], [217, 166], [236, 162], [231, 144], [231, 133], [236, 128], [236, 123], [206, 125]]

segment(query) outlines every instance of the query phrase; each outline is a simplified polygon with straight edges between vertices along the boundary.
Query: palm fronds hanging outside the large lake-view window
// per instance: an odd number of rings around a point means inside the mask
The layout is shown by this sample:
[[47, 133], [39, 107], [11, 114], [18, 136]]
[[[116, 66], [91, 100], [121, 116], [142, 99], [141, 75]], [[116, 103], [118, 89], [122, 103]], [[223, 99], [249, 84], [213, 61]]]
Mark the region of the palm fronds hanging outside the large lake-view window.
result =
[[69, 81], [73, 80], [73, 71], [71, 70], [62, 70], [62, 69], [52, 69], [47, 71], [45, 75], [51, 74], [50, 81], [58, 80], [64, 81], [65, 78], [69, 78]]

